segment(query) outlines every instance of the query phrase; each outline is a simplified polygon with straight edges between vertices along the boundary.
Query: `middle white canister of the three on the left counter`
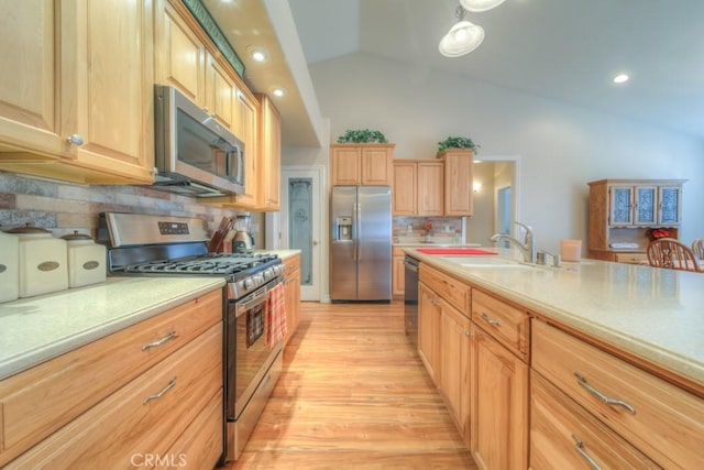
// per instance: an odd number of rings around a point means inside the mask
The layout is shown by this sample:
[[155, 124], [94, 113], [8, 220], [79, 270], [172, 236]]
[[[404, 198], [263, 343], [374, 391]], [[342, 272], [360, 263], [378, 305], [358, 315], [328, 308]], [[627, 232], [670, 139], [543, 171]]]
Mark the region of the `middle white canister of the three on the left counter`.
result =
[[38, 227], [8, 230], [20, 239], [20, 297], [32, 297], [68, 288], [66, 240]]

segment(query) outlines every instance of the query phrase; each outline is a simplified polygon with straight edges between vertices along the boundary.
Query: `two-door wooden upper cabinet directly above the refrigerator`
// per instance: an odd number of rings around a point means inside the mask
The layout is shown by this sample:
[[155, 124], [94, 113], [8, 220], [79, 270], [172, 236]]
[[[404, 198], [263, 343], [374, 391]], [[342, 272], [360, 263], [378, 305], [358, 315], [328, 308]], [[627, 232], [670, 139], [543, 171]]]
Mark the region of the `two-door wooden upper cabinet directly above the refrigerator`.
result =
[[332, 144], [332, 186], [391, 186], [394, 146], [389, 143]]

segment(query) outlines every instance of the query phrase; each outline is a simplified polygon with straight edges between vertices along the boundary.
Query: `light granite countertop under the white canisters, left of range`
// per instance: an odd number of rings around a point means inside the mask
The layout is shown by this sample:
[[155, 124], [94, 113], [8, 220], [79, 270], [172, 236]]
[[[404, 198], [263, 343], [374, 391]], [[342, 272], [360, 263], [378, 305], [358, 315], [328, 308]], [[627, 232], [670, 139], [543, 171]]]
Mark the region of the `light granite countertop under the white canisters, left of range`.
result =
[[223, 285], [222, 277], [108, 277], [0, 304], [0, 380]]

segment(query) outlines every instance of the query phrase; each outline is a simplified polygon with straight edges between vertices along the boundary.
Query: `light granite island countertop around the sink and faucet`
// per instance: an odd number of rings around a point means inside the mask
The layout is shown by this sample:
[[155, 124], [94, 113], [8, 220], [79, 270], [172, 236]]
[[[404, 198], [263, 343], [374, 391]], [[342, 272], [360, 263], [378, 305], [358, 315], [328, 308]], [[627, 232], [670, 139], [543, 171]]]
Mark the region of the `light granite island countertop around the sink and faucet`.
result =
[[405, 251], [704, 385], [704, 274], [596, 260], [562, 267], [471, 266]]

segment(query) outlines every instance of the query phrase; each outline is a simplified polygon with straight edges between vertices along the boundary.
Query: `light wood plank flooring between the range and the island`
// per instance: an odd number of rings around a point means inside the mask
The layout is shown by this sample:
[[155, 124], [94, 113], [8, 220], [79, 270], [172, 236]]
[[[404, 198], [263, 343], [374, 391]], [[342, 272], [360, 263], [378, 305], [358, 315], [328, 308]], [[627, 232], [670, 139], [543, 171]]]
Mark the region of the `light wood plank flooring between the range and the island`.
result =
[[476, 469], [403, 303], [302, 303], [284, 373], [235, 469]]

